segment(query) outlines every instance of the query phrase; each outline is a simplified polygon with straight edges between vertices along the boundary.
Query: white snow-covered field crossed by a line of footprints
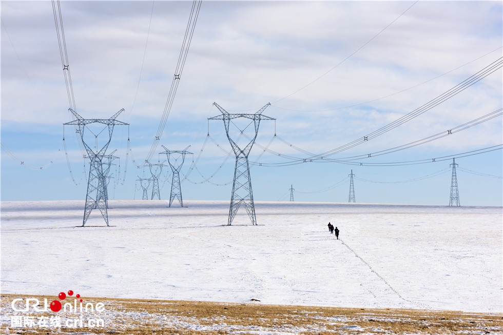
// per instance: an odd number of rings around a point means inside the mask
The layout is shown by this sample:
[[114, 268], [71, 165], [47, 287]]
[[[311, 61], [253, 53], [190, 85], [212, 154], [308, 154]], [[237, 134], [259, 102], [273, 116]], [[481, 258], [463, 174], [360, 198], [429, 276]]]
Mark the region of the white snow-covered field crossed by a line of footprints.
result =
[[[173, 204], [174, 205], [174, 204]], [[2, 292], [501, 312], [501, 207], [2, 202]], [[328, 233], [332, 222], [340, 239]]]

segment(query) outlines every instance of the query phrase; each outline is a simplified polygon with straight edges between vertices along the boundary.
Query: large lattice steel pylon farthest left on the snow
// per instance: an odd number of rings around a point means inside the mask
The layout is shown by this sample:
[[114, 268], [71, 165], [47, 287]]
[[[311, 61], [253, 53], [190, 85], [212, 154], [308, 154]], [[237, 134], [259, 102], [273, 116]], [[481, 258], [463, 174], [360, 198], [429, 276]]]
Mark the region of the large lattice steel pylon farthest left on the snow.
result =
[[[86, 148], [88, 158], [90, 160], [90, 167], [89, 167], [89, 179], [87, 182], [87, 194], [86, 194], [86, 206], [84, 208], [84, 220], [82, 222], [82, 226], [86, 224], [87, 219], [89, 218], [89, 215], [91, 214], [91, 211], [94, 208], [99, 208], [101, 214], [103, 215], [103, 219], [105, 219], [105, 223], [108, 226], [108, 193], [107, 193], [107, 187], [106, 187], [106, 174], [103, 171], [103, 159], [105, 157], [105, 151], [108, 148], [108, 145], [110, 144], [110, 141], [112, 140], [112, 132], [113, 132], [113, 127], [115, 125], [118, 126], [127, 126], [129, 124], [117, 121], [117, 116], [119, 116], [120, 113], [124, 111], [124, 108], [115, 113], [110, 119], [84, 119], [82, 116], [77, 114], [74, 110], [71, 108], [69, 109], [70, 112], [73, 114], [75, 117], [74, 121], [67, 122], [63, 125], [74, 125], [78, 128], [78, 132], [80, 133], [82, 143], [84, 144], [84, 147]], [[105, 143], [105, 145], [99, 149], [98, 147], [98, 135], [94, 134], [95, 136], [95, 144], [94, 148], [96, 148], [96, 151], [91, 149], [91, 147], [84, 141], [84, 130], [85, 128], [88, 128], [89, 124], [92, 123], [101, 123], [103, 125], [106, 125], [108, 127], [108, 141]], [[105, 127], [105, 128], [106, 128]]]

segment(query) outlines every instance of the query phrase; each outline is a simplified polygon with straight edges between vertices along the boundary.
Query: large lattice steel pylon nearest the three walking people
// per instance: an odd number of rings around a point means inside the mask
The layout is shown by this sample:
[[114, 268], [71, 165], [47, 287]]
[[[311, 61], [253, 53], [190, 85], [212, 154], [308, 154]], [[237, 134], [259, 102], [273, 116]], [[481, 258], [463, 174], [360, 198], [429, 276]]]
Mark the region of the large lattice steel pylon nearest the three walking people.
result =
[[[234, 169], [234, 182], [233, 182], [233, 192], [230, 198], [230, 208], [229, 208], [229, 219], [227, 225], [230, 226], [236, 216], [236, 213], [241, 205], [245, 206], [246, 212], [250, 218], [253, 225], [257, 225], [257, 218], [255, 215], [255, 204], [253, 201], [253, 191], [251, 190], [251, 178], [250, 178], [250, 167], [248, 164], [248, 154], [251, 147], [257, 139], [257, 134], [259, 131], [259, 125], [261, 120], [276, 120], [272, 117], [262, 115], [262, 112], [270, 105], [268, 103], [262, 107], [255, 114], [244, 114], [236, 113], [230, 114], [225, 109], [213, 103], [222, 113], [222, 115], [217, 115], [214, 117], [209, 117], [208, 120], [223, 120], [225, 126], [225, 132], [227, 134], [227, 139], [229, 140], [230, 146], [233, 148], [234, 154], [236, 155], [236, 166]], [[255, 136], [251, 141], [241, 149], [236, 142], [229, 136], [229, 124], [230, 120], [237, 119], [238, 117], [244, 117], [253, 121], [255, 125]]]

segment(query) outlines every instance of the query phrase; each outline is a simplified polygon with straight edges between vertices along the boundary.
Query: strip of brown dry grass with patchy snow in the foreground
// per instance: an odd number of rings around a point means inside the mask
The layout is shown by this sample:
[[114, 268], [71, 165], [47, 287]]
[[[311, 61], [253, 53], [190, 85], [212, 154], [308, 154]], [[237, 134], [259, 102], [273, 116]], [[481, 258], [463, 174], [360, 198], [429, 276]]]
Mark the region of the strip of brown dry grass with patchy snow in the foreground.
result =
[[[80, 317], [68, 312], [17, 312], [15, 298], [54, 296], [1, 296], [2, 333], [9, 334], [503, 334], [503, 315], [418, 309], [368, 309], [313, 306], [263, 305], [199, 301], [84, 298], [102, 302], [105, 311], [83, 314], [103, 319], [104, 327], [13, 327], [12, 316]], [[23, 306], [22, 304], [18, 305]]]

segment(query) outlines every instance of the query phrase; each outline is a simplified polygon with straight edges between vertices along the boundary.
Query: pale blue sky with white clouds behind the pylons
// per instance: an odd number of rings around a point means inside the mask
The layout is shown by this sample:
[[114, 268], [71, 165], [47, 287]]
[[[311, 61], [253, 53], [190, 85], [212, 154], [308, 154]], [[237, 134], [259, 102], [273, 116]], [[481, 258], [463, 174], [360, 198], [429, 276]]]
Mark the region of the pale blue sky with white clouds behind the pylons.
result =
[[[255, 200], [288, 201], [293, 185], [296, 201], [347, 202], [353, 170], [357, 202], [448, 205], [456, 157], [461, 205], [503, 203], [502, 71], [488, 68], [502, 54], [501, 2], [203, 2], [169, 114], [192, 2], [60, 5], [74, 106], [52, 3], [1, 3], [2, 201], [85, 199], [89, 166], [63, 126], [70, 107], [85, 119], [125, 109], [117, 120], [129, 126], [114, 128], [107, 150], [120, 157], [110, 199], [142, 198], [138, 176], [150, 174], [150, 150], [151, 163], [166, 160], [161, 145], [194, 153], [184, 199], [230, 199], [235, 157], [223, 122], [207, 120], [216, 102], [230, 113], [271, 104], [263, 115], [276, 121], [260, 123], [249, 155]], [[236, 119], [229, 135], [244, 146], [250, 131]], [[166, 167], [161, 199], [170, 184]]]

